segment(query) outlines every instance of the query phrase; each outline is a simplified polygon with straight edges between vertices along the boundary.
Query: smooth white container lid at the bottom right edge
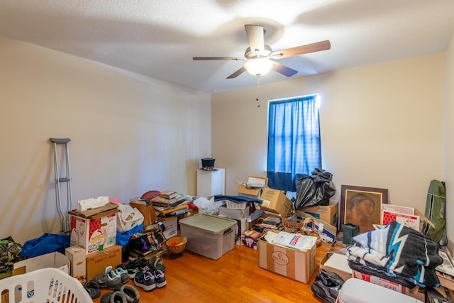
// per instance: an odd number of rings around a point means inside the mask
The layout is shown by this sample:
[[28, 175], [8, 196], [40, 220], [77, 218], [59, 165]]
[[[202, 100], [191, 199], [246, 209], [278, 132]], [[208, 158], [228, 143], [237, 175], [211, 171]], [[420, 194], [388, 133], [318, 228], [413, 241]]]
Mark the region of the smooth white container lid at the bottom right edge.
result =
[[364, 280], [351, 278], [339, 290], [336, 303], [423, 303], [419, 299]]

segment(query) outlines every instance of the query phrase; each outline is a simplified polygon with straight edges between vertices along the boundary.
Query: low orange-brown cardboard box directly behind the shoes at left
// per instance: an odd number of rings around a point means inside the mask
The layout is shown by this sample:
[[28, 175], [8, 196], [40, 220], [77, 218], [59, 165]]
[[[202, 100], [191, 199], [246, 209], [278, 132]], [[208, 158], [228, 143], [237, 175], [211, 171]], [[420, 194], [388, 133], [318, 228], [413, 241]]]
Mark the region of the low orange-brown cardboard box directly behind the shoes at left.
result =
[[114, 245], [104, 250], [96, 251], [87, 255], [87, 281], [92, 280], [94, 275], [99, 275], [106, 270], [107, 266], [116, 268], [122, 262], [121, 246]]

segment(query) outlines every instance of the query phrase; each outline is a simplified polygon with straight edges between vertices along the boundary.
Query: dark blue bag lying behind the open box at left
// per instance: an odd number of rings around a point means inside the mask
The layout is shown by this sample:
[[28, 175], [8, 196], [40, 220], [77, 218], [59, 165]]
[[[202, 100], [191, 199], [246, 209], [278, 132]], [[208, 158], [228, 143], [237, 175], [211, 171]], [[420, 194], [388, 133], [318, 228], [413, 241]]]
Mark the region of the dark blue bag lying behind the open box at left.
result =
[[46, 253], [65, 253], [65, 248], [70, 247], [70, 235], [44, 233], [43, 236], [23, 243], [21, 256], [26, 258], [45, 255]]

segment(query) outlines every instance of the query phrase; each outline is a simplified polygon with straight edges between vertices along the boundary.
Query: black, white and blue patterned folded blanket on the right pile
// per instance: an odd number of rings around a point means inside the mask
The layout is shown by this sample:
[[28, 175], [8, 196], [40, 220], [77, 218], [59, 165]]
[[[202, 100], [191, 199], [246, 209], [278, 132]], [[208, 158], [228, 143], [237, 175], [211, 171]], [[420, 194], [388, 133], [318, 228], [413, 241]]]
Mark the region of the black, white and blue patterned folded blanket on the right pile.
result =
[[435, 268], [443, 263], [438, 245], [419, 231], [392, 221], [385, 228], [361, 233], [347, 248], [348, 260], [386, 272], [420, 287], [438, 287]]

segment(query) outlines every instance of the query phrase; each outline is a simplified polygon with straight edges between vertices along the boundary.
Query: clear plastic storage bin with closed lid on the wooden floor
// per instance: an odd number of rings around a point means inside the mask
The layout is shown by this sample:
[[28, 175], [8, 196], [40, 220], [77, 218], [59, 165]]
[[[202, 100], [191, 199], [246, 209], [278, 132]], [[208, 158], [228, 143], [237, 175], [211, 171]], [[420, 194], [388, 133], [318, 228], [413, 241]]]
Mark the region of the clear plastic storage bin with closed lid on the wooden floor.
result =
[[189, 216], [179, 220], [179, 225], [187, 238], [186, 249], [214, 260], [233, 249], [238, 233], [236, 220], [210, 214]]

